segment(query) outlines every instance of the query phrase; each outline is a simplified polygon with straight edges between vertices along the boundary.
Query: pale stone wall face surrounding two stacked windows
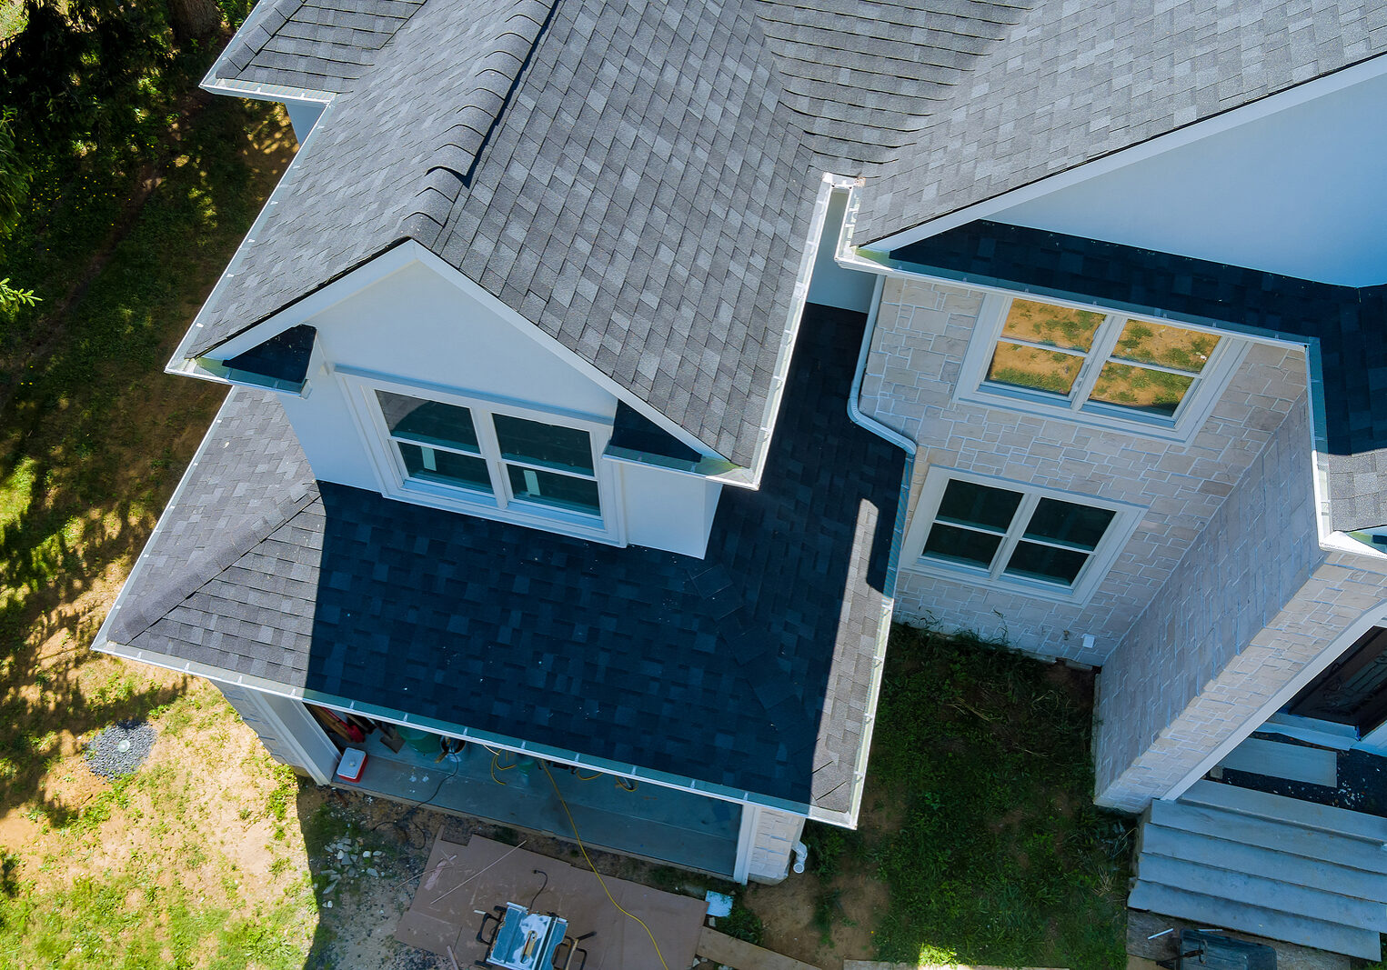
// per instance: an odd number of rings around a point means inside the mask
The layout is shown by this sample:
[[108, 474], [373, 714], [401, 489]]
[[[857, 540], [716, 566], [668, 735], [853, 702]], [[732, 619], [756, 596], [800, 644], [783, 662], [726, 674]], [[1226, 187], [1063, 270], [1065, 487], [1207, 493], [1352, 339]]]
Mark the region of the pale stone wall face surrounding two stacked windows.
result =
[[[953, 399], [982, 297], [963, 284], [884, 284], [861, 407], [920, 442], [911, 514], [932, 466], [1126, 502], [1147, 513], [1082, 607], [911, 572], [903, 557], [896, 615], [1103, 664], [1301, 400], [1304, 353], [1252, 346], [1189, 443], [1103, 431]], [[1308, 482], [1308, 432], [1304, 448]], [[1092, 650], [1082, 646], [1085, 633], [1094, 637]]]

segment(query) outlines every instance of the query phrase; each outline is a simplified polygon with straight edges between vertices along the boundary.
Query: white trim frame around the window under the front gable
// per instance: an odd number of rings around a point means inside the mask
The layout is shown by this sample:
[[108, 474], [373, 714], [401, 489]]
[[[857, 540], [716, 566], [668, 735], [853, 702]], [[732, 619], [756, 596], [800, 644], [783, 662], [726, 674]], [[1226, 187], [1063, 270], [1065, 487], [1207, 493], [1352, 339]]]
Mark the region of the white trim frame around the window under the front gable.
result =
[[[608, 439], [612, 436], [610, 420], [577, 412], [540, 410], [524, 403], [485, 396], [458, 388], [442, 388], [434, 384], [405, 382], [381, 374], [338, 369], [337, 377], [347, 398], [348, 410], [361, 432], [366, 453], [380, 484], [380, 493], [431, 509], [460, 511], [479, 518], [498, 522], [527, 525], [545, 532], [571, 535], [580, 539], [594, 539], [613, 546], [626, 545], [626, 528], [621, 518], [621, 500], [617, 479], [612, 467], [602, 457]], [[436, 482], [409, 479], [399, 449], [394, 446], [386, 417], [376, 400], [376, 391], [438, 400], [445, 405], [467, 407], [481, 443], [481, 459], [491, 473], [494, 493], [469, 492], [462, 485], [452, 486]], [[587, 515], [563, 509], [546, 509], [526, 502], [516, 502], [510, 495], [510, 482], [503, 471], [505, 461], [495, 441], [491, 414], [509, 414], [542, 424], [556, 424], [588, 432], [592, 445], [592, 471], [598, 485], [598, 502], [602, 514]], [[451, 450], [451, 449], [442, 449]]]

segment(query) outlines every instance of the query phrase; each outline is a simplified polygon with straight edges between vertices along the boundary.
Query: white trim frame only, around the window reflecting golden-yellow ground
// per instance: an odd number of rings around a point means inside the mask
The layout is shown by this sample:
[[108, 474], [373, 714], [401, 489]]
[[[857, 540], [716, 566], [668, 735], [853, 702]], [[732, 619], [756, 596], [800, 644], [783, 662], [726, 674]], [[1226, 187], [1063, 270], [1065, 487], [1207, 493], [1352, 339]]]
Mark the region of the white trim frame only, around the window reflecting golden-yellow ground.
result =
[[[1007, 312], [1011, 309], [1011, 302], [1014, 299], [1028, 299], [1037, 303], [1069, 306], [1107, 316], [1107, 320], [1104, 320], [1099, 327], [1093, 346], [1086, 355], [1083, 355], [1083, 367], [1079, 370], [1079, 376], [1074, 382], [1074, 389], [1067, 398], [1046, 394], [1044, 391], [1028, 391], [1025, 388], [1001, 387], [986, 382], [988, 366], [992, 363], [997, 341], [1001, 340], [1001, 328], [1006, 324]], [[1103, 405], [1087, 400], [1087, 391], [1092, 389], [1092, 385], [1097, 381], [1099, 371], [1103, 369], [1103, 364], [1108, 362], [1112, 349], [1117, 346], [1118, 338], [1122, 335], [1122, 328], [1129, 320], [1151, 323], [1160, 327], [1179, 327], [1180, 330], [1193, 330], [1196, 333], [1212, 334], [1219, 338], [1218, 346], [1214, 349], [1214, 353], [1209, 355], [1208, 363], [1204, 364], [1204, 370], [1194, 380], [1194, 385], [1190, 388], [1190, 392], [1180, 402], [1173, 418], [1162, 418], [1155, 414], [1140, 414], [1137, 412], [1128, 412], [1126, 409], [1115, 405]], [[1201, 427], [1204, 427], [1204, 423], [1208, 421], [1209, 414], [1214, 412], [1214, 406], [1218, 403], [1219, 396], [1222, 396], [1223, 389], [1227, 387], [1229, 378], [1243, 362], [1247, 348], [1248, 341], [1246, 340], [1239, 340], [1226, 331], [1215, 330], [1212, 327], [1189, 324], [1183, 320], [1162, 320], [1158, 317], [1143, 316], [1140, 313], [1108, 310], [1101, 306], [1053, 299], [1050, 297], [1037, 298], [1033, 294], [1024, 292], [988, 292], [982, 301], [982, 312], [978, 315], [978, 326], [974, 330], [972, 340], [968, 342], [968, 351], [963, 359], [963, 367], [958, 373], [958, 384], [954, 389], [954, 399], [993, 407], [1025, 410], [1028, 413], [1057, 417], [1076, 424], [1126, 431], [1146, 435], [1148, 438], [1160, 438], [1162, 441], [1187, 442]], [[1161, 367], [1154, 369], [1162, 370]]]

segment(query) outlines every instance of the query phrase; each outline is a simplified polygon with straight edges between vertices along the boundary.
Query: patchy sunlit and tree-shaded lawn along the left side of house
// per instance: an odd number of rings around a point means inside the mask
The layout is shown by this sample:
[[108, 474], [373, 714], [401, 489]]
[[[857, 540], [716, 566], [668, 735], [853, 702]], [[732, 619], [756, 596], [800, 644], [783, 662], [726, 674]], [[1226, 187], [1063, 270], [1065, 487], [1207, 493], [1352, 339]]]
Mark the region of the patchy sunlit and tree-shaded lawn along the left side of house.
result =
[[[282, 112], [219, 98], [122, 231], [130, 177], [74, 172], [0, 247], [44, 297], [0, 346], [7, 967], [301, 967], [312, 946], [297, 784], [209, 686], [87, 650], [222, 396], [162, 364], [293, 144]], [[82, 743], [125, 718], [160, 737], [108, 783]]]

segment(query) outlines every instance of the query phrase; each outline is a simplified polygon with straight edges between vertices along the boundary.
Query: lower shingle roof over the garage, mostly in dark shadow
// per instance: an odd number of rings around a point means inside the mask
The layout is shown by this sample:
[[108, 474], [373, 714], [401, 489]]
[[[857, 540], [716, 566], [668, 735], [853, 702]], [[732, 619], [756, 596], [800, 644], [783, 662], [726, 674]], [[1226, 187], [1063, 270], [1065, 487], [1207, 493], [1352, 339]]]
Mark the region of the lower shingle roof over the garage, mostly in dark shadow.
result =
[[105, 637], [849, 812], [908, 485], [847, 418], [863, 324], [810, 308], [761, 489], [724, 492], [706, 558], [315, 482], [275, 395], [236, 388]]

